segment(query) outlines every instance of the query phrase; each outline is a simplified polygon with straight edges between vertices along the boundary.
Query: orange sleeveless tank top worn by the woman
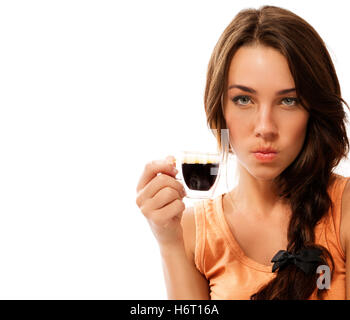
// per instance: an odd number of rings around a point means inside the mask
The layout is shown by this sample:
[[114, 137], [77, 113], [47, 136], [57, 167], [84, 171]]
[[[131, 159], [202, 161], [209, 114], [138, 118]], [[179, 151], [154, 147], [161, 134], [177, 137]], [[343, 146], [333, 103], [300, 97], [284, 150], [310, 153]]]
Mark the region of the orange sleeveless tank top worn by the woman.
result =
[[[335, 179], [328, 188], [334, 207], [316, 225], [315, 240], [326, 247], [334, 259], [330, 288], [324, 289], [327, 291], [325, 299], [345, 300], [345, 253], [340, 245], [339, 230], [342, 194], [350, 177], [334, 175]], [[276, 273], [272, 273], [270, 266], [260, 264], [243, 253], [223, 213], [222, 197], [194, 204], [195, 264], [209, 281], [212, 300], [249, 300]], [[316, 291], [311, 300], [317, 299]]]

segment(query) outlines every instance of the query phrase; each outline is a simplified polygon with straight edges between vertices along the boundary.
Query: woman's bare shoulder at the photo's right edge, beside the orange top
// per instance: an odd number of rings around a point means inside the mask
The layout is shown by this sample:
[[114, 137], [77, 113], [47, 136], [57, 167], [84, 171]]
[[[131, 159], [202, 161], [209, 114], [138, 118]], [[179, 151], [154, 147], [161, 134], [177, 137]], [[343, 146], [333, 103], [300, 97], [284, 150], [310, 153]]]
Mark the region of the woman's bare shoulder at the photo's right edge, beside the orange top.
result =
[[346, 253], [350, 252], [350, 179], [343, 191], [341, 211], [340, 238], [343, 251]]

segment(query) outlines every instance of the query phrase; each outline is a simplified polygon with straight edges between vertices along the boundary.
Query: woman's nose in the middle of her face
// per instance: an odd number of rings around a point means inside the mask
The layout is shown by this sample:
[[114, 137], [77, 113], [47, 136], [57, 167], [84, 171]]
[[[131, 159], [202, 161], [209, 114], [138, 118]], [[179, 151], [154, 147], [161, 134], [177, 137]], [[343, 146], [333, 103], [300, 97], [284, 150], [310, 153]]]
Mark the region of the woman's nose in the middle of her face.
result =
[[272, 106], [260, 106], [255, 122], [255, 136], [272, 139], [277, 132]]

